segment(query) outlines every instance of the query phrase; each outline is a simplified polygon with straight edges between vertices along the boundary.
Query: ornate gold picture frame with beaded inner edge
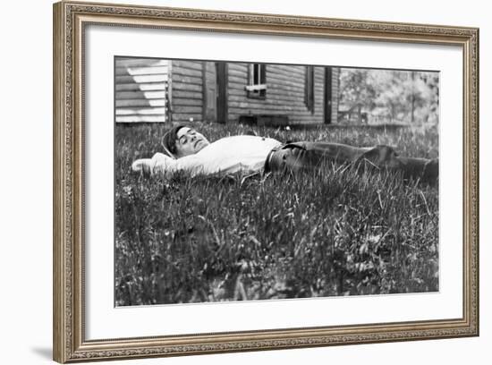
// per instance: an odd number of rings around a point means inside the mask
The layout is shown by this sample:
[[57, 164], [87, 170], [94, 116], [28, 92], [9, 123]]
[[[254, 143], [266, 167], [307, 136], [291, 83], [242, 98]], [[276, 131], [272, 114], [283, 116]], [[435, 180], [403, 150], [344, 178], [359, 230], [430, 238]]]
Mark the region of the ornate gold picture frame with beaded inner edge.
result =
[[[211, 34], [394, 42], [462, 50], [462, 315], [385, 323], [88, 338], [86, 310], [86, 30], [193, 30]], [[410, 46], [409, 46], [410, 47]], [[384, 64], [380, 65], [384, 67]], [[437, 25], [224, 13], [119, 4], [54, 5], [54, 360], [131, 359], [479, 335], [479, 30]], [[101, 122], [106, 123], [106, 122]], [[107, 123], [112, 123], [108, 121]], [[446, 128], [444, 125], [443, 128]], [[445, 189], [445, 182], [441, 182]], [[446, 227], [441, 227], [445, 229]], [[445, 244], [444, 242], [441, 242]], [[113, 244], [111, 242], [111, 244]], [[112, 263], [107, 264], [112, 271]], [[116, 310], [116, 309], [115, 309]], [[186, 320], [185, 318], [182, 319]], [[165, 334], [165, 335], [164, 335]]]

